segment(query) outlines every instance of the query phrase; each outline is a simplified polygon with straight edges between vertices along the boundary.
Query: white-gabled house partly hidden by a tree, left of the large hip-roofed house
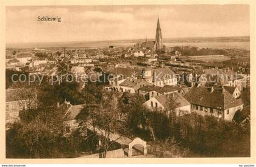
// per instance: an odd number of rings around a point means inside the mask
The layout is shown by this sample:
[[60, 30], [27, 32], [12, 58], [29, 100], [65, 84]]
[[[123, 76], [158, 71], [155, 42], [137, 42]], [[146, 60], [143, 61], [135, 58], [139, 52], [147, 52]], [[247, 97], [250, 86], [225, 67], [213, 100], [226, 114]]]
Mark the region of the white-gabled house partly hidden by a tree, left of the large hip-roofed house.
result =
[[[160, 111], [165, 111], [165, 109], [168, 109], [169, 98], [172, 98], [172, 100], [175, 103], [173, 107], [174, 110], [176, 111], [177, 116], [181, 114], [190, 114], [191, 104], [185, 98], [183, 98], [181, 94], [177, 92], [171, 95], [159, 95], [153, 97], [145, 103], [143, 103], [143, 106], [148, 107], [151, 110], [157, 109]], [[167, 111], [167, 114], [169, 115], [169, 111]]]

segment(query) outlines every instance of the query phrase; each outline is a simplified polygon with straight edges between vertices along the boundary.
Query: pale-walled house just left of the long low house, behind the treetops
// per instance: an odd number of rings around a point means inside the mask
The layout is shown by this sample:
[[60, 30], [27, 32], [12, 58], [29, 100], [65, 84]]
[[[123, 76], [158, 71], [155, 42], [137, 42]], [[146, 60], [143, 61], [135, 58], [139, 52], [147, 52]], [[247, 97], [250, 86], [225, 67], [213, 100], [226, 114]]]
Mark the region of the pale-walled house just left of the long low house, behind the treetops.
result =
[[122, 83], [119, 84], [120, 90], [122, 92], [129, 92], [130, 94], [138, 93], [138, 89], [143, 86], [152, 85], [152, 83], [148, 83], [147, 81], [141, 79], [127, 78]]

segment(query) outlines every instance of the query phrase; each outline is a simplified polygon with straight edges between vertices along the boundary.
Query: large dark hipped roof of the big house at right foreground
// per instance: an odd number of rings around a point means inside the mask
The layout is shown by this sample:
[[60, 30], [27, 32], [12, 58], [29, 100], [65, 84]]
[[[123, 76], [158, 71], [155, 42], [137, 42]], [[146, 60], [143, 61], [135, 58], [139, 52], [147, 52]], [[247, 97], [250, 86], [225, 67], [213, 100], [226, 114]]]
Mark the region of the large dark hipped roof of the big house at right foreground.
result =
[[234, 98], [228, 91], [214, 89], [213, 92], [207, 87], [192, 87], [184, 97], [191, 104], [198, 104], [215, 109], [229, 109], [243, 104], [241, 99]]

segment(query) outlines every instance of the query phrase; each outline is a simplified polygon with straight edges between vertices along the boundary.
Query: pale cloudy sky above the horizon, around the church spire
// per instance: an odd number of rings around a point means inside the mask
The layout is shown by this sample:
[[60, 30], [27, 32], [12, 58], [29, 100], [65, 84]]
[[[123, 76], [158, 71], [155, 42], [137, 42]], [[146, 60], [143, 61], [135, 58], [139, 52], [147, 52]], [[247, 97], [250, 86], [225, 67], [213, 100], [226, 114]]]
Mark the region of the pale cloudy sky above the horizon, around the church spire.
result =
[[249, 36], [249, 5], [13, 6], [6, 43], [153, 39], [158, 16], [163, 38]]

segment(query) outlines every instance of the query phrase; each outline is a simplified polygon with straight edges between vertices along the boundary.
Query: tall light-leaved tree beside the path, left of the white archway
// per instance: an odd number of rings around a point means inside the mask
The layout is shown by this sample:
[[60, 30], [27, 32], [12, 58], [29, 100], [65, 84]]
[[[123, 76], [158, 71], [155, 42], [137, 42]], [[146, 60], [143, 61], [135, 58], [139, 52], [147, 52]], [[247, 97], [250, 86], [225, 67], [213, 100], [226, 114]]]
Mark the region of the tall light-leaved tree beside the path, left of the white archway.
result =
[[[87, 105], [77, 115], [80, 121], [89, 122], [95, 134], [102, 136], [100, 158], [105, 158], [107, 151], [115, 141], [110, 138], [120, 127], [118, 98], [112, 92], [102, 92], [100, 97], [94, 96], [94, 90], [89, 89], [85, 100]], [[90, 125], [89, 125], [90, 126]]]

